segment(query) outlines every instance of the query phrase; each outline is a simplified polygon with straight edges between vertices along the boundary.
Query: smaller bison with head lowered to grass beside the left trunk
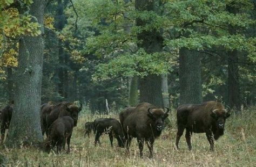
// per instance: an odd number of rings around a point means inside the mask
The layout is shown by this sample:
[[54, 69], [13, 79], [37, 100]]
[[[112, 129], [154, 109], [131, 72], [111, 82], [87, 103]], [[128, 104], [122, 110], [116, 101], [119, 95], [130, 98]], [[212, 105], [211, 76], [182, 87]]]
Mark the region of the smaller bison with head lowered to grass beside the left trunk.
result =
[[70, 153], [70, 139], [74, 121], [69, 116], [64, 116], [56, 119], [49, 128], [49, 135], [45, 140], [45, 148], [48, 152], [57, 147], [57, 153], [65, 150], [66, 143], [68, 144], [67, 153]]

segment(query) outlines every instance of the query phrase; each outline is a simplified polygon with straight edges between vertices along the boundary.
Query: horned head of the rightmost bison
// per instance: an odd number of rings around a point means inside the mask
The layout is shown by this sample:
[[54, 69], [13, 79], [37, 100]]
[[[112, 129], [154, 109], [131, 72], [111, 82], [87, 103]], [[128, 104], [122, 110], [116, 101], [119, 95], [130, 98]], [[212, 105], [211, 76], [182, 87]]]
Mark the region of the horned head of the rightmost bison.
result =
[[214, 118], [216, 126], [223, 129], [226, 118], [230, 117], [230, 112], [227, 112], [225, 109], [214, 109], [211, 110], [211, 117]]

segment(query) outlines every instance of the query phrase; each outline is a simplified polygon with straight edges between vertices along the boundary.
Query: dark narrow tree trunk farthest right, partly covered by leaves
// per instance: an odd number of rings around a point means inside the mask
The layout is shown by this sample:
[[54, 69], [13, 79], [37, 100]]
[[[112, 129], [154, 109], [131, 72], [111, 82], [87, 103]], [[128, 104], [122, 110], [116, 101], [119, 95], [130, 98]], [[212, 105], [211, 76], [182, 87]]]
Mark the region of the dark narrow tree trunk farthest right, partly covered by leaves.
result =
[[[227, 11], [233, 14], [238, 13], [238, 9], [233, 6], [227, 6]], [[230, 25], [228, 27], [230, 34], [236, 34], [235, 27]], [[228, 57], [228, 105], [233, 108], [235, 107], [237, 111], [241, 110], [241, 100], [240, 100], [240, 88], [239, 88], [239, 68], [238, 68], [238, 51], [234, 49], [233, 51], [227, 52]]]

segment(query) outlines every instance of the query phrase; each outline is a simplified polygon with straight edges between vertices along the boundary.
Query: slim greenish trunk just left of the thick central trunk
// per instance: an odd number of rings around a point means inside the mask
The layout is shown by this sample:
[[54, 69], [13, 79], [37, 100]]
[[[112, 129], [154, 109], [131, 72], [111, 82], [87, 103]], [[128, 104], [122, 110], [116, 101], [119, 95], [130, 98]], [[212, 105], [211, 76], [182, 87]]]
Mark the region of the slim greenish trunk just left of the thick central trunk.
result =
[[129, 83], [129, 106], [136, 106], [138, 104], [138, 77], [131, 77]]

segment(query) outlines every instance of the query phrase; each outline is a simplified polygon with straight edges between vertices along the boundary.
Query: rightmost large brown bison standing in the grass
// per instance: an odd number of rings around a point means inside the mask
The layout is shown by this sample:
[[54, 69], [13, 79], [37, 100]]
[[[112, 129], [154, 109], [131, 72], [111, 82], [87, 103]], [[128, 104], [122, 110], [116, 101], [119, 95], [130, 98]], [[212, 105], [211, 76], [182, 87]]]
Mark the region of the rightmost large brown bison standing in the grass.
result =
[[223, 104], [217, 101], [207, 101], [203, 104], [184, 104], [177, 109], [176, 147], [179, 139], [186, 128], [186, 141], [188, 149], [191, 150], [192, 133], [206, 133], [211, 146], [214, 147], [214, 139], [217, 140], [224, 134], [224, 125], [226, 118], [230, 117]]

